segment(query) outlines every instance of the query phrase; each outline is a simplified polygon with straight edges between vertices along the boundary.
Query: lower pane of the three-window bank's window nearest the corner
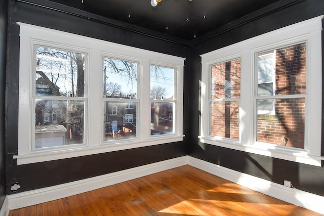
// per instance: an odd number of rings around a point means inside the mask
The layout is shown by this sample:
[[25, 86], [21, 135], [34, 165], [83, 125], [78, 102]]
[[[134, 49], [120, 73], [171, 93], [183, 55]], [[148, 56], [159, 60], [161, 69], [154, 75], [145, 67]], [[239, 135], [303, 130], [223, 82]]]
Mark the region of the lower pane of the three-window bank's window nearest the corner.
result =
[[151, 135], [173, 133], [173, 103], [151, 103]]

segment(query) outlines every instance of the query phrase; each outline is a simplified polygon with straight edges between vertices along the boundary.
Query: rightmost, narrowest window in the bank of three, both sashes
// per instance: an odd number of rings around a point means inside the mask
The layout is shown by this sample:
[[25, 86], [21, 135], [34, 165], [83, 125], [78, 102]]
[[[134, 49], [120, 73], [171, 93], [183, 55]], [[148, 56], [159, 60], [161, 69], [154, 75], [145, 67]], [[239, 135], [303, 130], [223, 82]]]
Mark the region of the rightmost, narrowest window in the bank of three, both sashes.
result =
[[150, 66], [151, 136], [174, 133], [175, 74], [175, 68]]

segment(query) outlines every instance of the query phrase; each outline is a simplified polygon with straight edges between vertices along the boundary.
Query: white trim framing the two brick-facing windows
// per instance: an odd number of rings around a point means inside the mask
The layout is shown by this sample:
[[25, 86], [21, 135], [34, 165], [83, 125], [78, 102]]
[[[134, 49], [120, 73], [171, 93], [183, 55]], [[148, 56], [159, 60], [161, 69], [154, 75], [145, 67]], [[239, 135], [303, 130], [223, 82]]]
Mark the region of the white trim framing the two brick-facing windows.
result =
[[[200, 141], [225, 148], [321, 166], [321, 30], [324, 16], [315, 17], [288, 27], [280, 28], [241, 42], [201, 55], [201, 126]], [[255, 53], [267, 49], [308, 41], [308, 80], [305, 119], [305, 150], [279, 147], [254, 142]], [[239, 108], [239, 141], [209, 135], [209, 66], [227, 59], [241, 58], [241, 92]], [[247, 75], [252, 74], [252, 75]], [[311, 83], [311, 84], [309, 84]], [[308, 123], [307, 123], [308, 122]]]

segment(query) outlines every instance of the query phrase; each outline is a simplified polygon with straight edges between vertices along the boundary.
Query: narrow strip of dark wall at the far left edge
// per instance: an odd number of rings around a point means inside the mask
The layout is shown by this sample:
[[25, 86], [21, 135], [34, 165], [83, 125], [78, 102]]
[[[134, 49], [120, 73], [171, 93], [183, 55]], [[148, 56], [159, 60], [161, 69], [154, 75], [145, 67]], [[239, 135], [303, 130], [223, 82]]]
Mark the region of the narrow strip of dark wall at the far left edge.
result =
[[8, 1], [0, 0], [0, 206], [6, 197], [5, 165], [5, 91]]

